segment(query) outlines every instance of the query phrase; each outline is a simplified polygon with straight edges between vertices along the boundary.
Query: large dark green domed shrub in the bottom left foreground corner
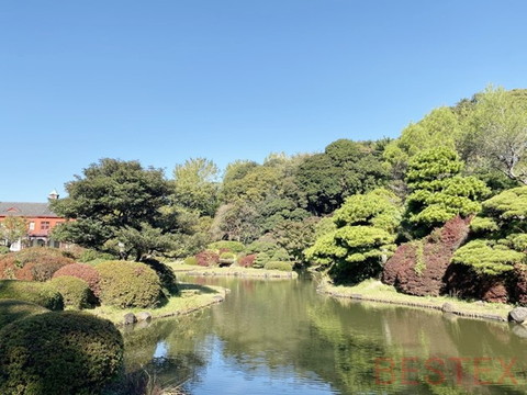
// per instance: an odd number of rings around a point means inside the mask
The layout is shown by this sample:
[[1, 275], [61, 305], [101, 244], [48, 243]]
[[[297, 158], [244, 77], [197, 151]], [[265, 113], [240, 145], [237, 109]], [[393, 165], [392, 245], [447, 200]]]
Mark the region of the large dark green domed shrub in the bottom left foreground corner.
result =
[[89, 314], [44, 313], [0, 330], [1, 394], [100, 394], [122, 363], [121, 334]]

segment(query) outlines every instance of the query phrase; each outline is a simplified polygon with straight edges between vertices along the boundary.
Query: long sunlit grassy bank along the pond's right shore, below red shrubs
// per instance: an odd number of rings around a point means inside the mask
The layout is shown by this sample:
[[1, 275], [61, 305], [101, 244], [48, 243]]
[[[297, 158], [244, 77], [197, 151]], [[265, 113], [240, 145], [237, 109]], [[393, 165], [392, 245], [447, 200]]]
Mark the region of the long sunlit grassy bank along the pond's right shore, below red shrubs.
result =
[[318, 292], [333, 297], [352, 298], [366, 302], [388, 303], [408, 307], [433, 308], [441, 311], [446, 303], [449, 313], [474, 318], [506, 320], [507, 314], [515, 306], [502, 303], [483, 303], [461, 301], [449, 296], [413, 296], [397, 292], [393, 286], [379, 280], [366, 280], [354, 286], [333, 285], [321, 282]]

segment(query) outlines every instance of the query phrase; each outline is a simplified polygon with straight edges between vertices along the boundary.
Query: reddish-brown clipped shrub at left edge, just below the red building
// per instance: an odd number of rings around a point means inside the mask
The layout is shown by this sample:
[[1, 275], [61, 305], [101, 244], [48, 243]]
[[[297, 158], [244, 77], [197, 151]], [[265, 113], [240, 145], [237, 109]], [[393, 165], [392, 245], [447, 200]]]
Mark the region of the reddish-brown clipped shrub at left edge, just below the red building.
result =
[[0, 256], [0, 279], [47, 281], [58, 269], [74, 262], [56, 248], [26, 248]]

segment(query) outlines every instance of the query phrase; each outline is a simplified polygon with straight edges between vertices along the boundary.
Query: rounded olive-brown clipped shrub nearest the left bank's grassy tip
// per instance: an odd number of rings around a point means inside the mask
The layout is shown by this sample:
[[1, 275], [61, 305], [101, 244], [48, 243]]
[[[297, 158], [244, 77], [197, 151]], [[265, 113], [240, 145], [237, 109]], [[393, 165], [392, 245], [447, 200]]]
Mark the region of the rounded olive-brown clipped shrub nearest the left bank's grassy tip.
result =
[[101, 275], [102, 304], [126, 307], [155, 307], [162, 301], [159, 276], [144, 263], [108, 261], [96, 266]]

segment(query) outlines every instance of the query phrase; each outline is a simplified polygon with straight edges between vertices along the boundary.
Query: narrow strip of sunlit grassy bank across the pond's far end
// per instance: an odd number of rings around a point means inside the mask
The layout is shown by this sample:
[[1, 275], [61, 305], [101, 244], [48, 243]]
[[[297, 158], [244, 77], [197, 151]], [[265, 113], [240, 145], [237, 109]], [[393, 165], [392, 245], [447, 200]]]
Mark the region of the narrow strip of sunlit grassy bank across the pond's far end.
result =
[[299, 274], [294, 271], [265, 270], [240, 267], [228, 268], [204, 268], [179, 262], [168, 264], [176, 273], [184, 272], [188, 275], [224, 275], [253, 279], [296, 279]]

